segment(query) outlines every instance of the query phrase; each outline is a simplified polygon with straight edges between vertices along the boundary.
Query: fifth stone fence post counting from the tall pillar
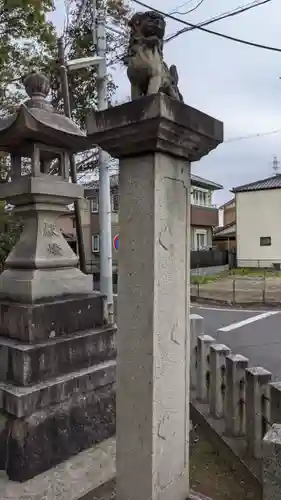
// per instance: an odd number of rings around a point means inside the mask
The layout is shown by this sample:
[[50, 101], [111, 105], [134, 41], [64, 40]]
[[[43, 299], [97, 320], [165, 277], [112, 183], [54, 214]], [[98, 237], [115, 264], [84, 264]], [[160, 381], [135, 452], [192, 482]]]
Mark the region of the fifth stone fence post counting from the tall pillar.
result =
[[249, 452], [258, 459], [270, 421], [271, 377], [269, 371], [259, 366], [246, 370], [246, 439]]

